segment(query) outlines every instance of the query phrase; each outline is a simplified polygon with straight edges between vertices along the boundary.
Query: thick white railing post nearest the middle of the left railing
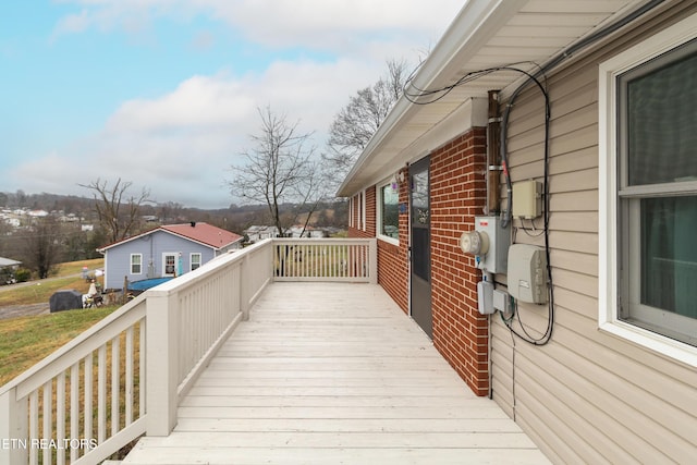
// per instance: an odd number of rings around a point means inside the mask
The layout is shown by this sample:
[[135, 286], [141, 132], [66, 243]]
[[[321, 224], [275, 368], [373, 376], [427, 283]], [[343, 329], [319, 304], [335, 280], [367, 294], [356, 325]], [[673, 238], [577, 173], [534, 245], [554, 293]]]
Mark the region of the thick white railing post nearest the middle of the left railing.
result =
[[169, 436], [179, 404], [179, 304], [170, 291], [147, 291], [147, 436]]

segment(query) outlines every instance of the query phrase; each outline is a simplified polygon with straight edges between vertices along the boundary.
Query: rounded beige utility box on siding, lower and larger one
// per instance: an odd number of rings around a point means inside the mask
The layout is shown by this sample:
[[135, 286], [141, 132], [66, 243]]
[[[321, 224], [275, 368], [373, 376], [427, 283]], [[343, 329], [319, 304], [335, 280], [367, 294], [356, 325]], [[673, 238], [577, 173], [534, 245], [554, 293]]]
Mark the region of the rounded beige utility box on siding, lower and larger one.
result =
[[536, 245], [509, 248], [509, 294], [521, 302], [547, 303], [547, 255]]

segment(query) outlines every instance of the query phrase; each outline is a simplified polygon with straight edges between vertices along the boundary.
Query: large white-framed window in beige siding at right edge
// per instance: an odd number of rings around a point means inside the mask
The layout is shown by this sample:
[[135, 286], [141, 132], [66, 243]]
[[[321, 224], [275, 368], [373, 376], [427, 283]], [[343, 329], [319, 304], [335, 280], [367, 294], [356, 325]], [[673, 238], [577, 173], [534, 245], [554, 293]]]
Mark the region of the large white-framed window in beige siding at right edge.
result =
[[600, 326], [689, 363], [697, 363], [696, 36], [678, 23], [602, 63], [599, 94]]

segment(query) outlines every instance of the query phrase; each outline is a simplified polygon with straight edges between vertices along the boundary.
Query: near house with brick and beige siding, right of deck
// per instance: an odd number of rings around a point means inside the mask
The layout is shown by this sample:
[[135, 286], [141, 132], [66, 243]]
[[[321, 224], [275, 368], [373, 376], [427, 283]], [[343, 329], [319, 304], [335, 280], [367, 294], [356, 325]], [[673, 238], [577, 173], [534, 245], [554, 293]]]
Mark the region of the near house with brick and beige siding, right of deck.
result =
[[[696, 1], [470, 0], [340, 187], [380, 284], [557, 463], [697, 457], [696, 114]], [[463, 252], [485, 211], [551, 304]]]

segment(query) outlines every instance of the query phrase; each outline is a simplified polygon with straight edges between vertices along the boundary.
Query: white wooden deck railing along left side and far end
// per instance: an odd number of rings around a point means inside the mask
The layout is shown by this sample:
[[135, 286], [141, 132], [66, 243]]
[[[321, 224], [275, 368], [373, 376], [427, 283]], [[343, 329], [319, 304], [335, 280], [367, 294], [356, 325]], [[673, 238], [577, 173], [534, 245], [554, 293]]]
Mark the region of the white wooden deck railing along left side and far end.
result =
[[268, 283], [376, 277], [375, 240], [267, 240], [146, 291], [0, 388], [0, 464], [97, 464], [168, 436]]

